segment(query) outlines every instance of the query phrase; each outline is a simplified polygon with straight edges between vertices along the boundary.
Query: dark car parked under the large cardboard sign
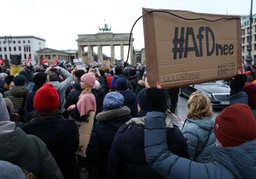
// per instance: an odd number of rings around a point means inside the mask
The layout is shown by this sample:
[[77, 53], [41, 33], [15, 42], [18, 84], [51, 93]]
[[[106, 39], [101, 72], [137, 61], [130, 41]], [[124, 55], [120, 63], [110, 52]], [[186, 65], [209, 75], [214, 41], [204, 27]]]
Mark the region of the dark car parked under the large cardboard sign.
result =
[[189, 97], [197, 91], [206, 94], [215, 108], [225, 108], [230, 105], [230, 87], [221, 80], [180, 87], [180, 96]]

